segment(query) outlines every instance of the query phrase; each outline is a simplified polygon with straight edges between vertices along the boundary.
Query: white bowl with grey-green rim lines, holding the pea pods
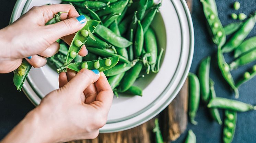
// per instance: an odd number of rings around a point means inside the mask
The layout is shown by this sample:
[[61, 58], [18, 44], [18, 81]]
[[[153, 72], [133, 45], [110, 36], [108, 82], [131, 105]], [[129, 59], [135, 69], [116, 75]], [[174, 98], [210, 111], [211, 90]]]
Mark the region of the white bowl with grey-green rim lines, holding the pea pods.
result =
[[[18, 0], [10, 23], [32, 6], [60, 3], [59, 0]], [[194, 30], [185, 0], [163, 0], [160, 13], [152, 23], [159, 47], [165, 49], [159, 73], [149, 74], [136, 81], [143, 88], [143, 97], [114, 98], [107, 124], [101, 133], [136, 127], [159, 114], [175, 98], [188, 75], [194, 52]], [[36, 45], [35, 45], [36, 46]], [[38, 105], [50, 91], [58, 88], [58, 74], [48, 65], [28, 74], [23, 92]]]

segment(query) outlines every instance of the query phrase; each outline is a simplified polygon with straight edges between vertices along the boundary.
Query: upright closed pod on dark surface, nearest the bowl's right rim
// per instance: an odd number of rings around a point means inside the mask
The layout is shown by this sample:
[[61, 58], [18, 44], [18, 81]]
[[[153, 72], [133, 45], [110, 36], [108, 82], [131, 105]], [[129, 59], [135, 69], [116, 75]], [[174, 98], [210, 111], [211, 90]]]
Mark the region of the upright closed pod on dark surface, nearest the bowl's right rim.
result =
[[189, 120], [192, 124], [197, 125], [197, 121], [195, 121], [196, 112], [199, 107], [200, 101], [200, 84], [198, 77], [194, 73], [188, 74], [189, 80], [189, 104], [188, 104], [188, 115]]

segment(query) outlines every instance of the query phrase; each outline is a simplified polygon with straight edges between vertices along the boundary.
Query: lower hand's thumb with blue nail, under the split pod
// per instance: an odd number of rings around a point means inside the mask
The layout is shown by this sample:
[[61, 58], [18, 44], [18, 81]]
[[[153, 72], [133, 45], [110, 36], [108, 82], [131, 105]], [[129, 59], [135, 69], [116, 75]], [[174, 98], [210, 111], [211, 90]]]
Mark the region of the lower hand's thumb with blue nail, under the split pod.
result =
[[81, 93], [92, 83], [96, 82], [100, 77], [98, 70], [82, 69], [77, 73], [64, 87], [69, 91], [70, 94], [81, 95]]

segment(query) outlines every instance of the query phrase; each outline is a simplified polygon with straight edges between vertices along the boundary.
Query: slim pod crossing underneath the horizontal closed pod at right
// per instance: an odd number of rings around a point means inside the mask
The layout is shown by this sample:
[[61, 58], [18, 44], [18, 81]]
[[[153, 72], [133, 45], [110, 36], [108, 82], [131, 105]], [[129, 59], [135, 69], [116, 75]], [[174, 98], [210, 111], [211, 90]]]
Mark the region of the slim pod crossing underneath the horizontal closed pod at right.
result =
[[[214, 90], [214, 82], [210, 79], [210, 100], [216, 98], [216, 93]], [[210, 114], [214, 120], [216, 120], [220, 125], [222, 125], [222, 121], [220, 118], [219, 110], [216, 108], [210, 108]]]

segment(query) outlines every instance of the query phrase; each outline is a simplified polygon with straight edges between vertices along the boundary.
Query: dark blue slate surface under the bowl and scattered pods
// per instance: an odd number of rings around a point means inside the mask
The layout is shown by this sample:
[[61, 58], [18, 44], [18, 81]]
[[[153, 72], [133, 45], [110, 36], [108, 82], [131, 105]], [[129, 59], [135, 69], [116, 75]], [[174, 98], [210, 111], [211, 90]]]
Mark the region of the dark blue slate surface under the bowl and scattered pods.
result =
[[[241, 3], [241, 8], [238, 11], [232, 9], [232, 4], [235, 0], [216, 0], [219, 18], [223, 25], [235, 22], [230, 18], [231, 13], [250, 13], [256, 11], [256, 0], [238, 0]], [[15, 0], [0, 0], [0, 29], [9, 24], [11, 12]], [[210, 35], [207, 31], [207, 23], [202, 11], [202, 5], [199, 0], [193, 0], [192, 19], [195, 30], [195, 53], [190, 72], [197, 72], [198, 64], [203, 57], [212, 56], [210, 77], [215, 82], [216, 94], [218, 97], [234, 99], [234, 94], [230, 90], [229, 85], [224, 81], [217, 66], [216, 51], [217, 47], [211, 42]], [[248, 35], [247, 38], [256, 35], [256, 28]], [[228, 37], [229, 39], [229, 37]], [[8, 48], [8, 47], [7, 47]], [[232, 61], [232, 53], [225, 54], [225, 59], [229, 63]], [[256, 64], [256, 61], [242, 66], [237, 70], [232, 71], [234, 80], [236, 81], [245, 71], [250, 70]], [[23, 92], [16, 90], [12, 82], [13, 74], [0, 74], [0, 140], [16, 125], [19, 121], [34, 108], [34, 105], [26, 98]], [[239, 101], [250, 104], [256, 104], [256, 78], [248, 81], [239, 89]], [[223, 117], [223, 111], [220, 111]], [[249, 111], [237, 114], [237, 125], [233, 143], [253, 143], [256, 142], [255, 127], [256, 127], [256, 112]], [[192, 129], [197, 137], [197, 142], [218, 143], [222, 140], [222, 126], [212, 121], [208, 110], [200, 105], [196, 117], [198, 126], [188, 124], [187, 130]], [[186, 132], [181, 135], [174, 143], [184, 142]]]

